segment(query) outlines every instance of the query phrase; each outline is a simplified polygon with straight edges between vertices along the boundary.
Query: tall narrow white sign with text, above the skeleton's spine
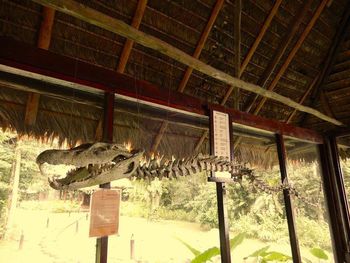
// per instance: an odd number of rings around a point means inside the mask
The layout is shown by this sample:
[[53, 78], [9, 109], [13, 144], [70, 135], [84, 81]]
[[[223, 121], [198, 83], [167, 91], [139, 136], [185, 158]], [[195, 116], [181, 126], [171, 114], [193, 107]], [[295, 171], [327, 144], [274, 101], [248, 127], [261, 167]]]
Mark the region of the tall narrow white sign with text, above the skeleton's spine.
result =
[[[231, 160], [230, 118], [227, 113], [212, 111], [212, 153]], [[229, 172], [215, 172], [216, 177], [230, 178]]]

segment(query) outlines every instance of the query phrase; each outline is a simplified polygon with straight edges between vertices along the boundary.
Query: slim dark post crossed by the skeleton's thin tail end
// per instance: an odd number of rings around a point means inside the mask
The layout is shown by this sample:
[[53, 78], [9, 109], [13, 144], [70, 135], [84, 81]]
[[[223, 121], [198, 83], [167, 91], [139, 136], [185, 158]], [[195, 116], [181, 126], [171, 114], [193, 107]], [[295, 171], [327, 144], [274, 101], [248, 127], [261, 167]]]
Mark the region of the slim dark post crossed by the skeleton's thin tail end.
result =
[[[277, 152], [278, 152], [278, 161], [280, 165], [281, 180], [282, 180], [282, 183], [288, 182], [287, 165], [286, 165], [286, 148], [284, 145], [283, 136], [281, 134], [276, 134], [276, 145], [277, 145]], [[298, 242], [298, 236], [296, 233], [296, 226], [295, 226], [295, 219], [294, 219], [293, 203], [289, 194], [289, 190], [283, 189], [283, 197], [284, 197], [284, 204], [286, 208], [289, 239], [290, 239], [290, 245], [292, 249], [293, 262], [301, 263], [299, 242]]]

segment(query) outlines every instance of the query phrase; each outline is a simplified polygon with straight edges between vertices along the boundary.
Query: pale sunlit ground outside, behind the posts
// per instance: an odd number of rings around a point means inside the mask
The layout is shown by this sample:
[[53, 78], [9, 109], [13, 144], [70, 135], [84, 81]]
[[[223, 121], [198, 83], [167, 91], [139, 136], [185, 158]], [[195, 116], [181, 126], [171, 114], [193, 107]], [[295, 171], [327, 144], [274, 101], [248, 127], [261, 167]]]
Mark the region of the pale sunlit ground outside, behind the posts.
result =
[[[88, 227], [87, 212], [69, 214], [17, 209], [15, 227], [7, 240], [0, 242], [0, 259], [12, 263], [93, 263], [96, 239], [88, 237]], [[23, 248], [19, 249], [21, 231], [24, 241]], [[132, 235], [134, 261], [130, 260]], [[109, 238], [108, 262], [189, 262], [192, 254], [177, 238], [201, 251], [219, 246], [217, 229], [204, 231], [194, 223], [122, 216], [119, 235]], [[232, 262], [250, 262], [243, 258], [265, 245], [257, 240], [245, 240], [232, 252]], [[290, 254], [288, 244], [275, 244], [272, 248]]]

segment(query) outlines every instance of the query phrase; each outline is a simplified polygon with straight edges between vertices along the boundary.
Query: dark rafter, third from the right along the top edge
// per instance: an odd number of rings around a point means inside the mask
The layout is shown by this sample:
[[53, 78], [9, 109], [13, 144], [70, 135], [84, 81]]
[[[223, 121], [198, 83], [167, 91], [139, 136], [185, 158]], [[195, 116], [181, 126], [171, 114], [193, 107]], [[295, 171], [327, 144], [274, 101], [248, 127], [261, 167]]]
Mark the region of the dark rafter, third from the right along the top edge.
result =
[[[313, 0], [307, 0], [304, 5], [301, 7], [301, 9], [298, 11], [298, 15], [296, 19], [294, 20], [292, 27], [290, 31], [286, 34], [286, 36], [283, 38], [282, 42], [279, 44], [277, 48], [277, 53], [273, 57], [272, 61], [269, 63], [268, 67], [264, 70], [262, 76], [258, 80], [257, 84], [261, 87], [265, 87], [267, 81], [271, 77], [272, 73], [274, 72], [275, 68], [277, 67], [279, 61], [282, 59], [284, 53], [287, 50], [287, 47], [289, 43], [293, 40], [294, 36], [298, 32], [298, 29], [300, 28], [301, 23], [303, 22], [304, 17], [307, 15], [307, 12], [309, 11], [311, 4], [313, 3]], [[255, 105], [255, 102], [259, 98], [258, 94], [253, 95], [253, 99], [248, 99], [248, 102], [244, 108], [246, 112], [250, 112], [252, 110], [252, 107]]]

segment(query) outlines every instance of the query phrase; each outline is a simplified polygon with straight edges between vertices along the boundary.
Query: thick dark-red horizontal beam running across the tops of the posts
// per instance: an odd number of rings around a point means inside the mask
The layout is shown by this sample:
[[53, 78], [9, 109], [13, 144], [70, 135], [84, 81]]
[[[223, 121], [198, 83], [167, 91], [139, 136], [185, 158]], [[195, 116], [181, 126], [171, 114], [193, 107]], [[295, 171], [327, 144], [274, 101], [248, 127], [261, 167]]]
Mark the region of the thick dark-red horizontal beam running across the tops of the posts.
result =
[[55, 92], [59, 96], [66, 94], [69, 97], [72, 92], [65, 93], [66, 91], [63, 90], [73, 89], [76, 91], [75, 94], [89, 94], [86, 98], [88, 101], [93, 100], [90, 98], [93, 96], [100, 105], [100, 96], [104, 91], [108, 91], [135, 103], [152, 104], [159, 108], [166, 107], [193, 117], [208, 116], [208, 108], [211, 107], [229, 113], [232, 121], [238, 124], [272, 133], [283, 132], [284, 135], [302, 140], [322, 141], [322, 136], [310, 129], [295, 127], [220, 105], [208, 105], [198, 98], [159, 88], [114, 70], [39, 49], [13, 39], [0, 36], [0, 43], [0, 70], [47, 83], [41, 90], [47, 89], [50, 94]]

